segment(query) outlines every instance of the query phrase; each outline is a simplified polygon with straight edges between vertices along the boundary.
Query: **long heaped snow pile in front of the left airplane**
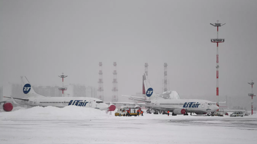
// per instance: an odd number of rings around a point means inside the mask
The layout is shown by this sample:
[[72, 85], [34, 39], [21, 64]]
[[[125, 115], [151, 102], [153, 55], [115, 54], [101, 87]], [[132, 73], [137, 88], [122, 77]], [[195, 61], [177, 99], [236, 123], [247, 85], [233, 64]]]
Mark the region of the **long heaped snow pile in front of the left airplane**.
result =
[[22, 118], [22, 119], [92, 119], [100, 117], [108, 117], [105, 111], [93, 108], [67, 106], [58, 107], [32, 107], [29, 109], [19, 109], [11, 112], [1, 112], [0, 119]]

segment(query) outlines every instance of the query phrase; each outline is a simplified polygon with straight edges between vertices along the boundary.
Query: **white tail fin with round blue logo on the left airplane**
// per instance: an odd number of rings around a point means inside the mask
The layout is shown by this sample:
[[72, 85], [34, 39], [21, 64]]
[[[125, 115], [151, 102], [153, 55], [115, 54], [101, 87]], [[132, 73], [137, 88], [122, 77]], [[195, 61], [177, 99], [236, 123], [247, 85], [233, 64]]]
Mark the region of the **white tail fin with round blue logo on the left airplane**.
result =
[[32, 86], [30, 85], [30, 82], [26, 78], [26, 76], [21, 76], [21, 82], [23, 83], [23, 93], [27, 95], [27, 97], [45, 97], [43, 95], [37, 94]]

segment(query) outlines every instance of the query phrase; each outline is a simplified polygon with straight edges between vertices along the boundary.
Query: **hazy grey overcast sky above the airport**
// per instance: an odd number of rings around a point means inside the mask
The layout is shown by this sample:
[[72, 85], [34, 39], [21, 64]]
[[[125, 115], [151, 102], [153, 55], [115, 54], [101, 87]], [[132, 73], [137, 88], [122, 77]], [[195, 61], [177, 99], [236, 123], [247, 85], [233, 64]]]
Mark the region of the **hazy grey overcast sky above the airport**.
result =
[[219, 20], [219, 94], [257, 93], [257, 1], [0, 1], [0, 86], [98, 86], [103, 63], [106, 99], [112, 95], [113, 62], [118, 94], [142, 91], [144, 64], [156, 92], [163, 63], [170, 90], [216, 95]]

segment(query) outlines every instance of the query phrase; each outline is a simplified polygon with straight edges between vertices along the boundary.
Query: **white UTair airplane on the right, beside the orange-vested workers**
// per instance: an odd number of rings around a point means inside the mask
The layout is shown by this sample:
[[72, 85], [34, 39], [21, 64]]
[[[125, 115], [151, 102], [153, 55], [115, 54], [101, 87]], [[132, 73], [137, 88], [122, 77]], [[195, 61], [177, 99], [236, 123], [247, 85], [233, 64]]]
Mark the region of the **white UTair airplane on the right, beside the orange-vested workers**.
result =
[[[136, 107], [148, 107], [149, 111], [154, 110], [154, 114], [158, 114], [157, 111], [171, 111], [172, 116], [176, 115], [188, 115], [188, 113], [195, 113], [197, 115], [204, 115], [210, 112], [217, 111], [219, 107], [211, 101], [201, 99], [164, 99], [154, 92], [154, 89], [149, 84], [146, 74], [144, 74], [144, 84], [146, 90], [145, 98], [138, 98], [132, 96], [126, 96], [133, 99]], [[124, 95], [122, 95], [124, 96]], [[145, 103], [136, 103], [137, 101], [143, 101]], [[112, 103], [116, 104], [116, 103]], [[121, 104], [121, 103], [117, 103]], [[131, 103], [122, 103], [131, 104]], [[163, 113], [164, 114], [164, 113]]]

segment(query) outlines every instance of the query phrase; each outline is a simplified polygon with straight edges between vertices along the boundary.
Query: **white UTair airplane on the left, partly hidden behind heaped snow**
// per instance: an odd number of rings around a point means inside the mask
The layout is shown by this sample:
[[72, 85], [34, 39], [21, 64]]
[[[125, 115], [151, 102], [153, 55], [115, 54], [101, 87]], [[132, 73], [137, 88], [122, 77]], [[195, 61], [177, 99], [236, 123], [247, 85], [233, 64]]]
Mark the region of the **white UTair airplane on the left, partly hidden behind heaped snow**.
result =
[[21, 76], [21, 81], [24, 84], [23, 93], [27, 95], [27, 98], [11, 98], [11, 100], [1, 101], [3, 104], [4, 111], [11, 111], [13, 106], [12, 101], [15, 104], [23, 104], [30, 106], [53, 106], [53, 107], [66, 107], [69, 105], [75, 105], [78, 107], [89, 107], [99, 110], [114, 111], [116, 109], [115, 105], [110, 104], [109, 106], [106, 103], [103, 103], [102, 100], [97, 98], [88, 98], [88, 97], [45, 97], [43, 95], [37, 94], [34, 89], [31, 87], [29, 81], [25, 76]]

